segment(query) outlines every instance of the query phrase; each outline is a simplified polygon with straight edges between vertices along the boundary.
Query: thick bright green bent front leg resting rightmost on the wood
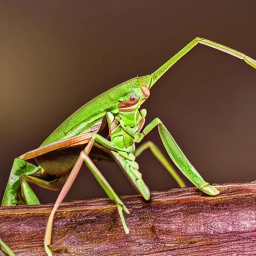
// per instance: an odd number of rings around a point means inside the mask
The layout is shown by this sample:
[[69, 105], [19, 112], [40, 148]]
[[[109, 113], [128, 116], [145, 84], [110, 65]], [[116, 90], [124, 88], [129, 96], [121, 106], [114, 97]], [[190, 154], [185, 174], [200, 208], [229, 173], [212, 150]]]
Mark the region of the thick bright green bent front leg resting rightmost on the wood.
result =
[[182, 171], [182, 173], [201, 191], [209, 195], [217, 195], [219, 191], [205, 182], [201, 175], [196, 171], [192, 164], [187, 160], [173, 137], [170, 135], [166, 127], [159, 118], [152, 120], [143, 131], [135, 134], [135, 142], [140, 142], [142, 138], [148, 134], [157, 125], [162, 143], [169, 154], [172, 161]]

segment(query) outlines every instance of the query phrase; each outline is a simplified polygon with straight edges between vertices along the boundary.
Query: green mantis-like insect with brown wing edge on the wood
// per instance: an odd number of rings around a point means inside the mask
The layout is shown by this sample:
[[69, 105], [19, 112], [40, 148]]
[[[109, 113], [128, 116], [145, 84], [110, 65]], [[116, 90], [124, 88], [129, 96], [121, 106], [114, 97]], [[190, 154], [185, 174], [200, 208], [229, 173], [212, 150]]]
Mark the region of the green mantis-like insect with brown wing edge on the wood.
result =
[[[155, 82], [197, 43], [243, 59], [256, 68], [256, 61], [245, 54], [208, 39], [196, 37], [153, 73], [127, 80], [93, 98], [60, 124], [38, 148], [14, 159], [1, 205], [39, 204], [28, 183], [52, 190], [61, 189], [45, 231], [44, 248], [48, 255], [51, 255], [49, 245], [54, 213], [83, 162], [109, 198], [115, 201], [126, 233], [129, 229], [125, 223], [123, 210], [126, 213], [129, 211], [94, 165], [94, 161], [116, 161], [134, 188], [148, 200], [150, 192], [141, 177], [135, 158], [146, 148], [150, 148], [178, 184], [181, 187], [185, 186], [151, 141], [135, 149], [135, 142], [139, 143], [155, 126], [158, 127], [168, 155], [181, 172], [202, 192], [208, 195], [219, 193], [203, 180], [187, 160], [159, 118], [155, 118], [143, 128], [146, 109], [140, 109], [141, 104], [149, 97], [150, 89]], [[104, 130], [107, 131], [107, 135], [103, 135]], [[30, 163], [30, 159], [35, 159], [38, 166]]]

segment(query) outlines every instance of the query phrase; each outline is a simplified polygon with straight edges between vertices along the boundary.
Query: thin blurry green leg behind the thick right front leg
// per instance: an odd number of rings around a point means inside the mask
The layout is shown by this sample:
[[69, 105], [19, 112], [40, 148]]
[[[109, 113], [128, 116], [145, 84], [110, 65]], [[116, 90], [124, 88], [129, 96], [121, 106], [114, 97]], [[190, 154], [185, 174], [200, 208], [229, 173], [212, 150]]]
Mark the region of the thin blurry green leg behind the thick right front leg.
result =
[[181, 179], [181, 177], [178, 175], [176, 170], [170, 165], [166, 157], [162, 154], [160, 149], [152, 142], [147, 141], [141, 146], [139, 146], [135, 151], [135, 156], [139, 156], [144, 150], [149, 148], [153, 155], [157, 158], [157, 160], [165, 167], [165, 169], [168, 170], [168, 172], [172, 175], [172, 177], [177, 181], [180, 187], [186, 186], [184, 181]]

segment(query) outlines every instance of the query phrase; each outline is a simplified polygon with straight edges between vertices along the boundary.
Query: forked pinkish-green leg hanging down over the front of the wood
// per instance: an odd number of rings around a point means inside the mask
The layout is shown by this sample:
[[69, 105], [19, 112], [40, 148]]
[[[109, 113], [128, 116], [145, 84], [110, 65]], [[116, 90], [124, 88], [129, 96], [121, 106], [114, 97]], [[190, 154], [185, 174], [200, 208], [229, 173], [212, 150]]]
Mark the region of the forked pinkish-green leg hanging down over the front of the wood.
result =
[[77, 176], [77, 174], [81, 168], [83, 161], [85, 162], [87, 167], [90, 169], [90, 171], [92, 172], [92, 174], [94, 175], [94, 177], [96, 178], [98, 183], [104, 189], [106, 194], [109, 196], [109, 198], [116, 202], [118, 213], [120, 215], [124, 231], [125, 231], [125, 233], [129, 232], [129, 229], [126, 225], [126, 222], [125, 222], [125, 219], [124, 219], [124, 216], [122, 213], [122, 210], [124, 210], [126, 213], [129, 213], [128, 209], [125, 207], [125, 205], [123, 204], [121, 199], [114, 192], [114, 190], [112, 189], [110, 184], [107, 182], [107, 180], [104, 178], [104, 176], [101, 174], [101, 172], [98, 170], [98, 168], [95, 166], [95, 164], [92, 162], [92, 160], [88, 156], [88, 153], [89, 153], [93, 143], [94, 143], [94, 141], [90, 140], [90, 142], [87, 144], [85, 149], [80, 152], [79, 157], [77, 158], [71, 172], [69, 173], [69, 175], [66, 179], [66, 182], [63, 185], [63, 187], [55, 201], [53, 209], [49, 215], [47, 225], [46, 225], [46, 230], [45, 230], [45, 236], [44, 236], [44, 249], [45, 249], [47, 255], [52, 255], [48, 245], [50, 245], [50, 240], [51, 240], [51, 230], [52, 230], [54, 213], [56, 212], [59, 204], [62, 202], [63, 198], [65, 197], [66, 193], [68, 192], [69, 188], [71, 187], [75, 177]]

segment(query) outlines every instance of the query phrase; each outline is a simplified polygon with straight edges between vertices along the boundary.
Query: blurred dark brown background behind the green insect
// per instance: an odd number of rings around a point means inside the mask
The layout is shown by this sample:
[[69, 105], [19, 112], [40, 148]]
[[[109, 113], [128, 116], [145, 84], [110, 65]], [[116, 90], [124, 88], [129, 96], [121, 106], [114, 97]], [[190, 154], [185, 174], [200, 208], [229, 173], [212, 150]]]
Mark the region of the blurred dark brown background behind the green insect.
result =
[[[14, 157], [195, 36], [256, 58], [255, 10], [254, 0], [0, 1], [0, 197]], [[255, 82], [242, 60], [198, 45], [153, 87], [147, 123], [159, 117], [208, 182], [253, 180]], [[157, 129], [146, 140], [163, 149]], [[150, 190], [177, 186], [150, 151], [138, 162]], [[135, 193], [115, 163], [98, 166], [118, 194]], [[41, 202], [58, 193], [33, 188]], [[98, 196], [105, 194], [84, 167], [66, 200]]]

